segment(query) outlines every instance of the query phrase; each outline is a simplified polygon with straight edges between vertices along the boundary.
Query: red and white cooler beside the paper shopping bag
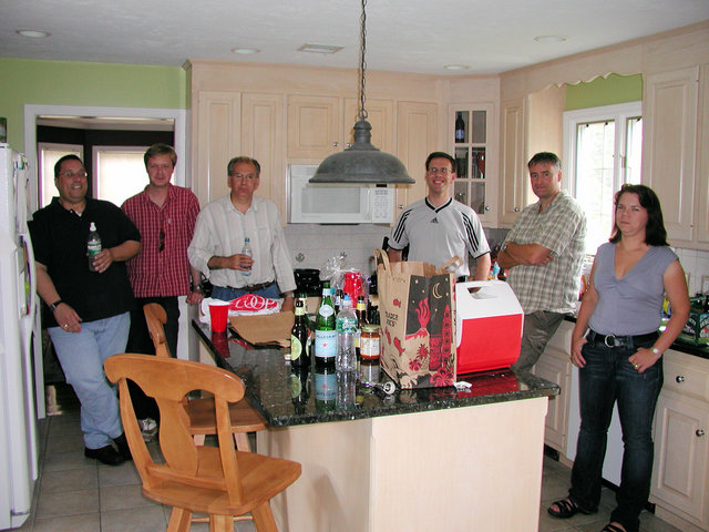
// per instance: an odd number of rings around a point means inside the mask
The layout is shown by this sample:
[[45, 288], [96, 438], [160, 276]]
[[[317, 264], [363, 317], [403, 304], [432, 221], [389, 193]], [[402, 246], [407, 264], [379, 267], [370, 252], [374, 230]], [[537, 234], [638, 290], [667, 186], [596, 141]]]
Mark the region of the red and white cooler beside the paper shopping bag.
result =
[[458, 374], [508, 368], [520, 357], [524, 314], [510, 285], [455, 285]]

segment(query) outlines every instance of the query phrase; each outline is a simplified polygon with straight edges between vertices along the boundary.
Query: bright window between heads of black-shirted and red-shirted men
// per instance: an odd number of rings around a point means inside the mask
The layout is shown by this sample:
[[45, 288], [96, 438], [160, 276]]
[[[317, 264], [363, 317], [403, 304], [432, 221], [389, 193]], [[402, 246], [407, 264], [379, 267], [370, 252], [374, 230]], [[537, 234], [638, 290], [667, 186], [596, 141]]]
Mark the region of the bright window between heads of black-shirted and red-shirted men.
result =
[[119, 207], [147, 185], [143, 163], [145, 147], [94, 146], [93, 176], [95, 197], [106, 200]]

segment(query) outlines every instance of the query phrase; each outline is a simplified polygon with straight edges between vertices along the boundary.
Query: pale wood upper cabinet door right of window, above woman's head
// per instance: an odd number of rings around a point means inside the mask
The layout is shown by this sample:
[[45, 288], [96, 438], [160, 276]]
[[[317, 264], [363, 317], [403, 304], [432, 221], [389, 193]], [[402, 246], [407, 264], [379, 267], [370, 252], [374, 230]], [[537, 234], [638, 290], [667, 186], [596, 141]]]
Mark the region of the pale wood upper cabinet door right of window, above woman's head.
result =
[[[648, 75], [644, 83], [643, 181], [660, 198], [671, 245], [697, 242], [699, 66]], [[705, 91], [706, 92], [706, 91]], [[706, 152], [706, 150], [702, 150]], [[703, 157], [703, 155], [702, 155]]]

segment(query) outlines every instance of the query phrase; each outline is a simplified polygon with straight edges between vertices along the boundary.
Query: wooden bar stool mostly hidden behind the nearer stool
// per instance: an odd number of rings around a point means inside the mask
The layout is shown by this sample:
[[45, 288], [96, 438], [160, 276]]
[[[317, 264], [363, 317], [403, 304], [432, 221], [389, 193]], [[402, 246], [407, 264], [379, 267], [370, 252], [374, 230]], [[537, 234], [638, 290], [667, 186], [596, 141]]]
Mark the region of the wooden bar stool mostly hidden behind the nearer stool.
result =
[[[169, 348], [165, 339], [164, 325], [167, 320], [165, 309], [157, 303], [148, 303], [143, 306], [143, 313], [147, 321], [147, 330], [155, 345], [155, 355], [162, 358], [171, 358]], [[204, 397], [185, 400], [184, 409], [189, 418], [189, 433], [193, 434], [198, 446], [204, 444], [207, 434], [217, 433], [216, 419], [214, 417], [214, 398]], [[232, 420], [230, 430], [234, 434], [236, 448], [239, 451], [250, 452], [248, 432], [264, 430], [267, 427], [266, 420], [248, 403], [248, 400], [230, 405], [229, 416]]]

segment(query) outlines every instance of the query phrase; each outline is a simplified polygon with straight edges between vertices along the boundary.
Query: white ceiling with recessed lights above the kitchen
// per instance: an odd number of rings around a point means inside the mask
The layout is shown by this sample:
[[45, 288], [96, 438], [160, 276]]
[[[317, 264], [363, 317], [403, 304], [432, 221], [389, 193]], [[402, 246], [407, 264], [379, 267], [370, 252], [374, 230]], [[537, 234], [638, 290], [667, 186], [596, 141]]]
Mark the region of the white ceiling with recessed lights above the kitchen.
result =
[[[358, 0], [0, 0], [0, 12], [2, 58], [359, 64]], [[709, 0], [369, 0], [367, 68], [491, 74], [705, 20]], [[21, 29], [50, 35], [30, 39], [16, 33]], [[567, 40], [543, 43], [538, 35]], [[306, 43], [343, 49], [298, 52]], [[235, 54], [236, 47], [260, 52]]]

